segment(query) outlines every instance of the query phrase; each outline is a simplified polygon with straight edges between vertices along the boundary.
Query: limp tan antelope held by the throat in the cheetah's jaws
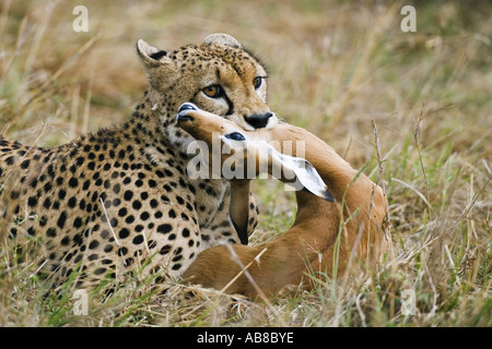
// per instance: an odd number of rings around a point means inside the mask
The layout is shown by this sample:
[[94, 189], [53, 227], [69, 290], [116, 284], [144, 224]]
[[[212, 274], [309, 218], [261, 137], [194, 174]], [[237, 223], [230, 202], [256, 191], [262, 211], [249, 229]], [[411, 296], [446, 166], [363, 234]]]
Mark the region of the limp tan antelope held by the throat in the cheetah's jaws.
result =
[[[389, 251], [390, 240], [383, 227], [387, 205], [382, 188], [314, 134], [289, 123], [245, 131], [189, 103], [179, 107], [176, 119], [183, 130], [208, 146], [219, 140], [227, 146], [230, 151], [221, 153], [221, 164], [234, 154], [243, 157], [236, 167], [243, 166], [245, 171], [257, 165], [255, 174], [261, 168], [271, 174], [276, 166], [282, 166], [303, 184], [295, 192], [295, 221], [285, 233], [254, 246], [204, 250], [185, 270], [184, 280], [256, 300], [259, 296], [274, 297], [290, 285], [309, 290], [314, 281], [308, 273], [339, 277], [351, 258], [373, 267]], [[305, 159], [296, 157], [296, 146], [292, 146], [292, 156], [282, 154], [285, 141], [293, 145], [304, 142]], [[279, 179], [289, 182], [286, 177]], [[249, 183], [250, 178], [231, 179], [230, 218], [238, 230], [247, 226]]]

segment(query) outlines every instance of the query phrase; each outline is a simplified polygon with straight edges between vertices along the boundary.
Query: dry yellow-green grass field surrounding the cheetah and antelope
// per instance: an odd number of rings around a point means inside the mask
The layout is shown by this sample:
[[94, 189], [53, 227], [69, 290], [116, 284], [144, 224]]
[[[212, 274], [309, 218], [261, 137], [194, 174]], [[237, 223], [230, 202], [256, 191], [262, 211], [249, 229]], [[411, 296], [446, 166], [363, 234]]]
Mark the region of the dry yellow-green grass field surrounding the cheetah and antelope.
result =
[[[70, 285], [44, 297], [33, 264], [8, 267], [2, 245], [0, 326], [492, 326], [490, 2], [417, 2], [414, 33], [400, 29], [403, 2], [84, 1], [89, 32], [75, 33], [78, 4], [2, 2], [2, 135], [56, 146], [120, 123], [147, 86], [137, 39], [174, 49], [225, 32], [267, 63], [279, 116], [384, 188], [395, 258], [272, 304], [179, 285], [160, 296], [143, 280], [90, 297], [81, 316]], [[256, 181], [255, 194], [251, 243], [295, 216], [282, 185]]]

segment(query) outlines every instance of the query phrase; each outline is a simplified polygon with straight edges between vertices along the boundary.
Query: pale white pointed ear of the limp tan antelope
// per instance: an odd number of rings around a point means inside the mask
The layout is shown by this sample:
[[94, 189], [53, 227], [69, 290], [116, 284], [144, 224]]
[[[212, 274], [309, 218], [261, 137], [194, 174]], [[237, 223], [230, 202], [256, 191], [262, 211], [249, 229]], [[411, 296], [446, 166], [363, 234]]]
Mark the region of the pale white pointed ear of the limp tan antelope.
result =
[[277, 151], [276, 153], [277, 154], [274, 155], [278, 159], [278, 163], [283, 167], [284, 172], [285, 170], [294, 172], [301, 184], [312, 194], [319, 196], [330, 203], [335, 202], [333, 195], [331, 195], [328, 186], [323, 181], [313, 164], [301, 157], [292, 157], [278, 153]]

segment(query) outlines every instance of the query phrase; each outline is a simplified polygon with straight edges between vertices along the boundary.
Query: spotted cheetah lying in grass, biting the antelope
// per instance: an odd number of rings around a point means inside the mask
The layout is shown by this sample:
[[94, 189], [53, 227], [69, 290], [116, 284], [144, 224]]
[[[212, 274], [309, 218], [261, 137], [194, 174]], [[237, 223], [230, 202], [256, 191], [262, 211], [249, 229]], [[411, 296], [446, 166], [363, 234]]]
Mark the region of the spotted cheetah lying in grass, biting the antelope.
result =
[[248, 219], [235, 224], [230, 183], [188, 176], [194, 139], [175, 117], [190, 101], [245, 130], [273, 128], [262, 63], [226, 34], [169, 52], [140, 39], [137, 53], [150, 86], [121, 125], [55, 148], [0, 137], [2, 241], [40, 241], [51, 285], [75, 270], [83, 287], [139, 268], [175, 280], [201, 251], [246, 244], [257, 225], [249, 191]]

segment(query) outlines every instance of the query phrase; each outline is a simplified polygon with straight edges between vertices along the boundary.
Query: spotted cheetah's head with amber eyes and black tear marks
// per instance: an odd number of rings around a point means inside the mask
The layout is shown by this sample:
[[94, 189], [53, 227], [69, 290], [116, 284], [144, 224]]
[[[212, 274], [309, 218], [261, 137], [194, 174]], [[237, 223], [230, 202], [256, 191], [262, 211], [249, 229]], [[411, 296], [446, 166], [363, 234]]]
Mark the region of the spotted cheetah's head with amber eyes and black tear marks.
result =
[[265, 68], [232, 36], [213, 34], [201, 45], [171, 52], [139, 40], [137, 52], [151, 85], [152, 112], [159, 113], [162, 132], [169, 141], [185, 146], [192, 141], [175, 120], [186, 101], [247, 131], [277, 124], [277, 116], [267, 105]]

